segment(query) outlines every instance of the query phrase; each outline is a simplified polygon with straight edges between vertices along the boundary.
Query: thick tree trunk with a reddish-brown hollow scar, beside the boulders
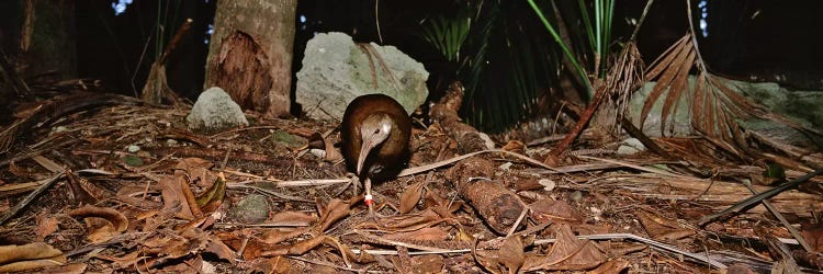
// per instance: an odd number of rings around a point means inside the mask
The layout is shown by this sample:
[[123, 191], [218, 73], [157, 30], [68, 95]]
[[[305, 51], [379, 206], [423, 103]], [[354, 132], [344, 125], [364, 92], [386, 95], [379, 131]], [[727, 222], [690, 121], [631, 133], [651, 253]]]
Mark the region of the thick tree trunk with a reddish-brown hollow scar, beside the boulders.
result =
[[218, 1], [205, 87], [221, 87], [244, 110], [289, 114], [296, 0]]

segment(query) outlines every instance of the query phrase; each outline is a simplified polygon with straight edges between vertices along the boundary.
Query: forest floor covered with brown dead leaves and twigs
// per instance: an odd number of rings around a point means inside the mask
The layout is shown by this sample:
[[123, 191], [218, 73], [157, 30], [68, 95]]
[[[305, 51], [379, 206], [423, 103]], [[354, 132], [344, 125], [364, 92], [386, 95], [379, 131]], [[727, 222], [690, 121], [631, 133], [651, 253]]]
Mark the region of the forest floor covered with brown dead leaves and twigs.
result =
[[[707, 220], [753, 195], [743, 182], [754, 182], [756, 192], [771, 186], [758, 184], [769, 182], [764, 167], [717, 160], [722, 156], [699, 138], [656, 139], [677, 155], [673, 161], [649, 151], [585, 153], [615, 149], [608, 134], [588, 134], [574, 145], [578, 152], [549, 168], [542, 162], [556, 141], [497, 144], [525, 157], [483, 152], [376, 184], [374, 221], [362, 187], [335, 159], [337, 124], [249, 115], [249, 127], [205, 135], [187, 129], [187, 114], [104, 106], [27, 133], [0, 163], [0, 267], [790, 273], [798, 264], [823, 266], [814, 252], [823, 247], [821, 179], [769, 199], [810, 251], [762, 204]], [[460, 156], [460, 140], [447, 132], [416, 123], [408, 165]], [[808, 172], [787, 168], [786, 179]], [[472, 189], [481, 183], [488, 187]]]

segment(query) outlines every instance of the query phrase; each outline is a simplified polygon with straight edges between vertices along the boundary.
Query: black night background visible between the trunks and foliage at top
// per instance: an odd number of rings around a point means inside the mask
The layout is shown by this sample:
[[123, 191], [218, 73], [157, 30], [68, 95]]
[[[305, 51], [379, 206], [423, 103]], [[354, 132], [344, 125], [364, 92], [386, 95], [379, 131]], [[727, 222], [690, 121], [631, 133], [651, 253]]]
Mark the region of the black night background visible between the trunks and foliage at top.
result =
[[[0, 8], [10, 8], [7, 1]], [[525, 2], [525, 1], [523, 1]], [[699, 14], [699, 1], [692, 8]], [[381, 28], [386, 45], [395, 45], [413, 58], [424, 62], [432, 72], [429, 89], [435, 96], [439, 76], [448, 76], [448, 66], [435, 48], [425, 43], [419, 23], [427, 16], [453, 13], [460, 2], [381, 1]], [[627, 19], [636, 19], [645, 1], [618, 1], [615, 15], [615, 38], [630, 35], [633, 26]], [[158, 8], [158, 5], [164, 5]], [[207, 45], [207, 28], [214, 16], [215, 1], [137, 0], [115, 16], [112, 1], [75, 1], [74, 12], [77, 43], [77, 78], [102, 80], [108, 91], [135, 94], [143, 87], [154, 53], [153, 36], [158, 23], [158, 9], [166, 14], [166, 27], [174, 27], [185, 18], [194, 20], [187, 38], [167, 62], [170, 87], [184, 96], [194, 99], [202, 90]], [[700, 39], [701, 53], [712, 72], [737, 79], [774, 80], [783, 75], [781, 83], [794, 89], [820, 89], [823, 67], [823, 46], [818, 35], [823, 27], [823, 1], [708, 1], [708, 37]], [[173, 14], [171, 14], [173, 13]], [[639, 33], [639, 48], [646, 64], [663, 53], [687, 30], [684, 1], [656, 1]], [[300, 22], [301, 15], [305, 23]], [[521, 16], [534, 16], [523, 13]], [[374, 25], [374, 1], [301, 0], [297, 5], [294, 43], [294, 71], [300, 69], [305, 43], [316, 32], [345, 32], [358, 42], [377, 41]], [[13, 48], [9, 31], [13, 19], [2, 21], [2, 46]], [[13, 27], [12, 27], [13, 28]], [[170, 37], [173, 30], [169, 30]], [[534, 35], [549, 35], [537, 33]], [[148, 45], [148, 46], [147, 46]], [[550, 45], [548, 45], [550, 46]], [[10, 52], [10, 50], [7, 50]]]

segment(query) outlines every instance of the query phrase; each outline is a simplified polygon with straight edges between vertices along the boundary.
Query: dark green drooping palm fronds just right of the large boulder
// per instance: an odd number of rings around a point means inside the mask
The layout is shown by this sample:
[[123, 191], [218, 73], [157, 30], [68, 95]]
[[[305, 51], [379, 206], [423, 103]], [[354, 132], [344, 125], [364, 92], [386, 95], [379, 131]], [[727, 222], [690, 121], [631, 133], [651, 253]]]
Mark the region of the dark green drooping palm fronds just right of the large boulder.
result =
[[560, 56], [522, 1], [474, 1], [452, 18], [438, 18], [420, 35], [455, 62], [465, 87], [462, 116], [499, 132], [526, 118], [538, 98], [559, 84]]

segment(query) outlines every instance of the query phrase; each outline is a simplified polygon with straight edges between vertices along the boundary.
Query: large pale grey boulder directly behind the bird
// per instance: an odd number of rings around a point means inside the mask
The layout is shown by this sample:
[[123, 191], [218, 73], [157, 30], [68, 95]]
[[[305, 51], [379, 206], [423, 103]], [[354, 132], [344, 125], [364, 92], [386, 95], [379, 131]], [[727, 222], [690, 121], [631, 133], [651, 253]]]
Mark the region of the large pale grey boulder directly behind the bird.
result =
[[306, 44], [296, 99], [306, 115], [317, 119], [339, 121], [349, 102], [370, 93], [394, 98], [410, 114], [429, 95], [428, 77], [422, 64], [393, 46], [359, 46], [343, 33], [322, 33]]

